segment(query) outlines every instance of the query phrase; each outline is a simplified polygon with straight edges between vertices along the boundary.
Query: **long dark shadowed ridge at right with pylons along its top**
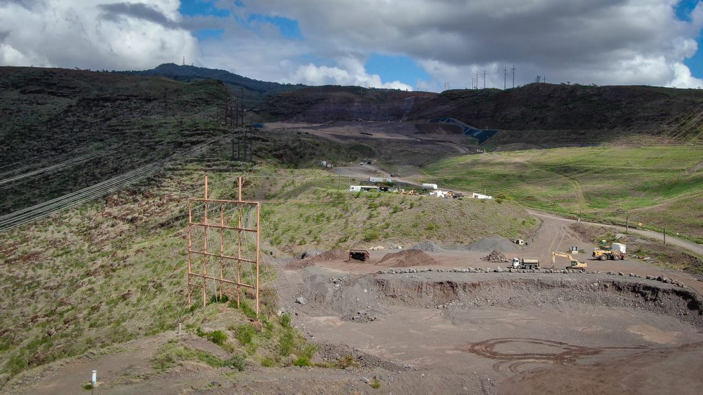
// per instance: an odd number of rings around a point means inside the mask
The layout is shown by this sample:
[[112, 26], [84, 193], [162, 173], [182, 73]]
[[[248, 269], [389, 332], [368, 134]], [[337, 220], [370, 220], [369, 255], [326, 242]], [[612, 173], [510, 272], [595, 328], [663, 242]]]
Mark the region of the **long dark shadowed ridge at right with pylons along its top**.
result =
[[701, 139], [701, 117], [695, 117], [701, 103], [703, 91], [653, 86], [529, 84], [443, 93], [323, 86], [271, 95], [255, 110], [269, 119], [301, 122], [453, 117], [488, 129], [610, 130]]

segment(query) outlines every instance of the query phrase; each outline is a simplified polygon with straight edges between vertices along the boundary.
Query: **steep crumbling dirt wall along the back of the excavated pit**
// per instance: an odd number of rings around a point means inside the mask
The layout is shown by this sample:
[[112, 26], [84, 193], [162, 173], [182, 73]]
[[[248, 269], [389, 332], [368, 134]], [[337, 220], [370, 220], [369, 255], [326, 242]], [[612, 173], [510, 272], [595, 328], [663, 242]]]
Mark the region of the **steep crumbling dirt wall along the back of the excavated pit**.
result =
[[[553, 304], [593, 304], [611, 308], [641, 309], [688, 321], [703, 330], [703, 299], [690, 290], [655, 282], [605, 275], [526, 275], [502, 276], [489, 273], [479, 277], [457, 273], [424, 272], [423, 277], [401, 275], [347, 276], [328, 279], [307, 278], [304, 294], [311, 303], [300, 308], [313, 316], [348, 316], [376, 306], [406, 306], [429, 309], [471, 309], [501, 306]], [[431, 277], [426, 277], [430, 274]]]

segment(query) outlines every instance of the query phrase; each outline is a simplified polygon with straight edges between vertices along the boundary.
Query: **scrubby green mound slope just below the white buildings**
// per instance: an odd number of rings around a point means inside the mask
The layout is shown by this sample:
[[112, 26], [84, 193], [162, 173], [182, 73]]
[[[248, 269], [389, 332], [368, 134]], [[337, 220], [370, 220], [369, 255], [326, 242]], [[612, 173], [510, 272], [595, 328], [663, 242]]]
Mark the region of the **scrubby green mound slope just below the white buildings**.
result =
[[358, 248], [420, 240], [467, 244], [488, 235], [525, 236], [536, 226], [505, 202], [391, 193], [349, 193], [347, 179], [325, 171], [278, 171], [284, 181], [264, 210], [269, 242], [285, 252]]

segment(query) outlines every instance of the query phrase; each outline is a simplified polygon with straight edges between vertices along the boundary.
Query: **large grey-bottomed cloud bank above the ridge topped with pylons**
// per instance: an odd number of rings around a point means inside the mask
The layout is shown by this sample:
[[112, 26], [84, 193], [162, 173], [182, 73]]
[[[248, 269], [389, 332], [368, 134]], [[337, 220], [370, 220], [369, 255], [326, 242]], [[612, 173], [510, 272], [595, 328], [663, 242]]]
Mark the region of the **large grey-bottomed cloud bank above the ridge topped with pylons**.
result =
[[[673, 85], [686, 79], [683, 60], [697, 51], [703, 26], [703, 4], [685, 22], [676, 18], [676, 0], [243, 3], [246, 12], [298, 20], [314, 53], [324, 58], [409, 56], [432, 77], [419, 85], [433, 90], [444, 82], [471, 86], [475, 72], [483, 86], [484, 70], [490, 73], [486, 85], [502, 88], [504, 67], [513, 65], [516, 84], [546, 75], [550, 82]], [[508, 79], [512, 86], [512, 75]]]

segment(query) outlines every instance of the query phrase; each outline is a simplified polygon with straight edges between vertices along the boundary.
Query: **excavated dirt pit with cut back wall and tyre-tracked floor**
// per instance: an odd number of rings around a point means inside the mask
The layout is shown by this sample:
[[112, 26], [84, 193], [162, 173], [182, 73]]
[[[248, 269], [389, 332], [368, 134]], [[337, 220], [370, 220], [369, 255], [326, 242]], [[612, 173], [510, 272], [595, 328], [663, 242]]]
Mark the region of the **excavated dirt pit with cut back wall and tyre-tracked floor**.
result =
[[595, 274], [309, 274], [297, 289], [309, 303], [295, 313], [314, 342], [451, 377], [441, 391], [697, 394], [703, 384], [703, 304], [690, 288]]

